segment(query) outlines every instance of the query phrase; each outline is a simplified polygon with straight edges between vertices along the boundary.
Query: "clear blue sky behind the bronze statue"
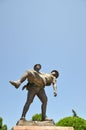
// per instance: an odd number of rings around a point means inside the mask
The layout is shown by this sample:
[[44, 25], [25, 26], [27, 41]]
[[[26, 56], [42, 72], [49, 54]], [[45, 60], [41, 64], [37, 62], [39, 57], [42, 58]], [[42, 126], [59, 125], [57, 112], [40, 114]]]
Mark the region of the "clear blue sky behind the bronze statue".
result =
[[[57, 122], [74, 109], [86, 119], [85, 0], [0, 0], [0, 116], [8, 129], [20, 119], [27, 96], [23, 84], [15, 89], [9, 80], [36, 63], [42, 72], [60, 73], [57, 97], [52, 86], [45, 88], [47, 116]], [[40, 112], [35, 97], [27, 120]]]

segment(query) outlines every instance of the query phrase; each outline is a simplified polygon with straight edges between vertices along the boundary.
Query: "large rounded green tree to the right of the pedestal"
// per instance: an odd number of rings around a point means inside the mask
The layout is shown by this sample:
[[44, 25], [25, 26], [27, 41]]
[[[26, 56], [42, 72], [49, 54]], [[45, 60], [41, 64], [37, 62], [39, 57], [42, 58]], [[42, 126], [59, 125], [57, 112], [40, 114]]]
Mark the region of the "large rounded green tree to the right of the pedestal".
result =
[[86, 130], [86, 120], [78, 117], [65, 117], [56, 123], [56, 126], [71, 126], [74, 130]]

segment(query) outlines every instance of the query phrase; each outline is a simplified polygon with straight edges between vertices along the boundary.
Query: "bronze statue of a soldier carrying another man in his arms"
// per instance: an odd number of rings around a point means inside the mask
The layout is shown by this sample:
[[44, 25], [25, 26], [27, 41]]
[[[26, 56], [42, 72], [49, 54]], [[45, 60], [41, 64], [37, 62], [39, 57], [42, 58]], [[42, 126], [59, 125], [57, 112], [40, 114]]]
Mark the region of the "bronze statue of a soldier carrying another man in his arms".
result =
[[59, 72], [53, 70], [50, 74], [47, 74], [40, 72], [40, 69], [41, 65], [36, 64], [34, 65], [33, 70], [27, 70], [19, 80], [9, 81], [13, 86], [15, 86], [15, 88], [19, 88], [22, 82], [24, 82], [26, 79], [28, 80], [28, 83], [22, 88], [22, 90], [26, 88], [28, 90], [28, 94], [23, 108], [21, 120], [25, 120], [26, 113], [33, 102], [35, 95], [37, 95], [42, 102], [42, 121], [48, 120], [46, 119], [47, 96], [45, 94], [44, 87], [53, 84], [54, 96], [57, 96], [56, 78], [58, 78]]

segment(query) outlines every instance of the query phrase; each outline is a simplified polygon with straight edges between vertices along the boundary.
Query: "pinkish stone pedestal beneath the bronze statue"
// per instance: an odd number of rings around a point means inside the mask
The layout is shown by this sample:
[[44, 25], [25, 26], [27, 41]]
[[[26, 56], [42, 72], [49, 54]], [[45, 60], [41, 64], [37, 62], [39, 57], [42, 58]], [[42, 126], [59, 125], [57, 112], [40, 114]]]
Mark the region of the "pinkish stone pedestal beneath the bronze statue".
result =
[[73, 127], [57, 127], [52, 121], [23, 121], [17, 122], [11, 130], [74, 130]]

